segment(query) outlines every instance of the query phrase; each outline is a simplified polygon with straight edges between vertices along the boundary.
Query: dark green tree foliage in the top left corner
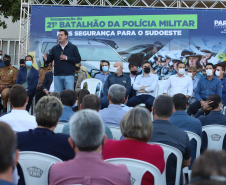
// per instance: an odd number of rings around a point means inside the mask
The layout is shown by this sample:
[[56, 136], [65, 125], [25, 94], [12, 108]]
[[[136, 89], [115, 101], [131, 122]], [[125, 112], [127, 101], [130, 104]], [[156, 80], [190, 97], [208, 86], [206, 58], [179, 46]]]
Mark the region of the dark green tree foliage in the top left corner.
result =
[[[20, 19], [20, 0], [0, 0], [0, 16], [12, 17], [12, 22]], [[7, 28], [5, 21], [0, 18], [0, 27]]]

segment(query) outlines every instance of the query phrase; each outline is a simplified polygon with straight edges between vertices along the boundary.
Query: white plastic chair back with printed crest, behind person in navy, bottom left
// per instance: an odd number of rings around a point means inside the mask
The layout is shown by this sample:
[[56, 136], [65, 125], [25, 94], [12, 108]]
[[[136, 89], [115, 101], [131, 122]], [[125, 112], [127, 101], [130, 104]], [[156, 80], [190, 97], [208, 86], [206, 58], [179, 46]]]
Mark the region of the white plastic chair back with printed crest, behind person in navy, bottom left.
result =
[[18, 162], [23, 170], [25, 184], [48, 185], [49, 169], [59, 161], [62, 160], [44, 153], [20, 152]]

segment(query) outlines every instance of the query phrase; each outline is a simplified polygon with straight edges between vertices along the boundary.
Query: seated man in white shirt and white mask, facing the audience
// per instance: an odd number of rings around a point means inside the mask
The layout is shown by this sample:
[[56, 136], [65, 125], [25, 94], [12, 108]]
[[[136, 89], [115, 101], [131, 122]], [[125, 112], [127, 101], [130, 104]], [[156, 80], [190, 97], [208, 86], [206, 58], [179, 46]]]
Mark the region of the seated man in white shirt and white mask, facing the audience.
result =
[[185, 64], [183, 62], [177, 63], [177, 74], [168, 78], [163, 94], [169, 94], [173, 97], [175, 94], [182, 93], [187, 99], [192, 96], [193, 83], [190, 76], [185, 75]]

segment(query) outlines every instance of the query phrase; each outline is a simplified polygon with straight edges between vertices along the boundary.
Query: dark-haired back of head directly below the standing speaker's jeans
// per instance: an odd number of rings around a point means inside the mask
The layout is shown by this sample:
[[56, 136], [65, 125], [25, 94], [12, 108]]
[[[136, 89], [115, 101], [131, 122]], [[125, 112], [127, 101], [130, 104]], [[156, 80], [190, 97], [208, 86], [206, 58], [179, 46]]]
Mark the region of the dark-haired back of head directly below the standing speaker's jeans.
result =
[[70, 89], [63, 90], [60, 93], [60, 99], [63, 105], [72, 107], [76, 101], [76, 93]]

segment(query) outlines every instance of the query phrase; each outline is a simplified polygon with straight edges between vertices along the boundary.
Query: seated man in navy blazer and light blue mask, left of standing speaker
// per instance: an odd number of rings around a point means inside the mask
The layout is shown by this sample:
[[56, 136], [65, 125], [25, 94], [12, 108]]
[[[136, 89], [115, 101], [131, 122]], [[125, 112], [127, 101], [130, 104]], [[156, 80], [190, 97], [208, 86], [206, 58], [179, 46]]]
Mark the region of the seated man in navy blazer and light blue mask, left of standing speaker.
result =
[[39, 72], [32, 66], [33, 64], [32, 56], [27, 55], [25, 57], [25, 64], [26, 64], [26, 67], [20, 68], [17, 74], [16, 83], [23, 85], [24, 88], [27, 90], [27, 95], [29, 97], [29, 100], [28, 100], [26, 110], [29, 111], [30, 106], [32, 104], [33, 97], [37, 91], [36, 88], [38, 85]]

